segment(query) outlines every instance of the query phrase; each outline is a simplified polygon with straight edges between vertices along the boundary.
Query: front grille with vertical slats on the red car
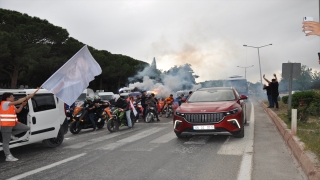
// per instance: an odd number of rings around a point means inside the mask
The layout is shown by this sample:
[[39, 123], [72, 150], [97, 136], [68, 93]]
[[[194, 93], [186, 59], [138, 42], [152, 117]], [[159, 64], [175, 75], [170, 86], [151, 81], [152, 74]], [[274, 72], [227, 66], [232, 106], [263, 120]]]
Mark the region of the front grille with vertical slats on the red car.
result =
[[224, 119], [224, 113], [185, 114], [184, 118], [189, 123], [219, 123]]

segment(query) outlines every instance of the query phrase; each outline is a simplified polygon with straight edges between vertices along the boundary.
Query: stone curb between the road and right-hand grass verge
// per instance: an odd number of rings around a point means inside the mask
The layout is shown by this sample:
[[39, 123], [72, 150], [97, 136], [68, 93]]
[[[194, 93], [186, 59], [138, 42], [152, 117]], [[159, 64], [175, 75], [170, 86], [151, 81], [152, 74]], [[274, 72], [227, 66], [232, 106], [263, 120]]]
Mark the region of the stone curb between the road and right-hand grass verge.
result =
[[267, 106], [260, 102], [265, 112], [272, 119], [280, 134], [282, 135], [285, 143], [291, 149], [294, 157], [299, 162], [302, 170], [307, 175], [310, 180], [319, 180], [320, 179], [320, 171], [314, 166], [310, 157], [304, 152], [304, 148], [299, 142], [296, 136], [291, 134], [291, 130], [287, 128], [287, 125], [280, 119], [276, 113], [274, 113], [271, 109], [267, 108]]

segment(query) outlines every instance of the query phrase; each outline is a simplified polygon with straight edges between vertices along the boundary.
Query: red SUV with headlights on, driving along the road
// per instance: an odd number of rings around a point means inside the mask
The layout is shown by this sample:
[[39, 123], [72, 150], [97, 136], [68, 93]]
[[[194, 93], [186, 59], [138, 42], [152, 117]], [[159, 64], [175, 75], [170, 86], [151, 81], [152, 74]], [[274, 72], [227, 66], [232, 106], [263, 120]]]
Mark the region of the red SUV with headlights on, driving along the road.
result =
[[173, 128], [185, 135], [233, 135], [244, 137], [248, 97], [232, 87], [201, 88], [175, 111]]

